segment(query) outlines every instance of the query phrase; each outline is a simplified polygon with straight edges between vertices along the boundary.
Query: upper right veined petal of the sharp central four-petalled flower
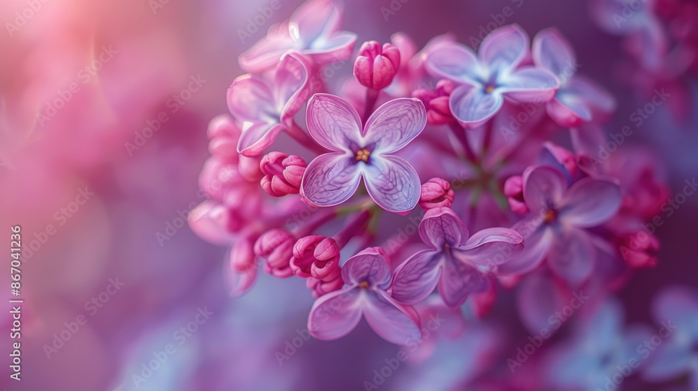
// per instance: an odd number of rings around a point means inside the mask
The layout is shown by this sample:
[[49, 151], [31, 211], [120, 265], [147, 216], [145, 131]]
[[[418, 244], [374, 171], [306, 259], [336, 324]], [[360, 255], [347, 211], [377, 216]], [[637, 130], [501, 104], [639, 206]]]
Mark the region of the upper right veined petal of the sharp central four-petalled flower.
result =
[[376, 143], [375, 153], [402, 149], [422, 133], [426, 125], [424, 103], [416, 98], [398, 98], [383, 103], [364, 126], [364, 145]]

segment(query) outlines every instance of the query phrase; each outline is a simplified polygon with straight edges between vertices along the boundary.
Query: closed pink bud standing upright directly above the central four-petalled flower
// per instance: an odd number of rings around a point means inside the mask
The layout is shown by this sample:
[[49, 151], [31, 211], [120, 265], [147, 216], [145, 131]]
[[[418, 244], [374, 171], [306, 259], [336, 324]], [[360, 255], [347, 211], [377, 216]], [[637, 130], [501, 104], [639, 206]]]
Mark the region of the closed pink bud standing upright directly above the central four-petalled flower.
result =
[[370, 89], [384, 89], [392, 83], [400, 66], [400, 51], [386, 43], [383, 47], [375, 40], [364, 42], [354, 63], [354, 77]]

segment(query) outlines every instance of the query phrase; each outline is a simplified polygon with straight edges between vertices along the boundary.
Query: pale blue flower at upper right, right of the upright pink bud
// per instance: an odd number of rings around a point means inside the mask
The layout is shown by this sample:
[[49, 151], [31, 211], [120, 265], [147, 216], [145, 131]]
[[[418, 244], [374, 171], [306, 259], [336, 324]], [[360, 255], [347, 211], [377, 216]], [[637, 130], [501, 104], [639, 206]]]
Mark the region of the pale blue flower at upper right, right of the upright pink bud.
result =
[[436, 77], [460, 84], [450, 96], [451, 112], [464, 127], [474, 129], [497, 114], [505, 97], [540, 102], [555, 95], [558, 81], [552, 73], [520, 66], [528, 55], [528, 36], [512, 25], [484, 38], [477, 57], [459, 43], [441, 43], [425, 65]]

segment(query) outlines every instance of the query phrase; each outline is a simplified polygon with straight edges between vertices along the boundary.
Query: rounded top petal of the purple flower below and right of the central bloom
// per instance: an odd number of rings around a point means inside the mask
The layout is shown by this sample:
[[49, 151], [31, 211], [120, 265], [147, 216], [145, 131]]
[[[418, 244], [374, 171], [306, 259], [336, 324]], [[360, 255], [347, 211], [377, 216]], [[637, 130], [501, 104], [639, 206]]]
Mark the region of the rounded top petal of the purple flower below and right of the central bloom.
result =
[[451, 208], [429, 209], [419, 223], [419, 237], [433, 249], [441, 250], [445, 244], [461, 247], [468, 240], [466, 224], [456, 216]]

